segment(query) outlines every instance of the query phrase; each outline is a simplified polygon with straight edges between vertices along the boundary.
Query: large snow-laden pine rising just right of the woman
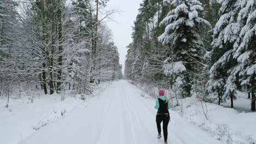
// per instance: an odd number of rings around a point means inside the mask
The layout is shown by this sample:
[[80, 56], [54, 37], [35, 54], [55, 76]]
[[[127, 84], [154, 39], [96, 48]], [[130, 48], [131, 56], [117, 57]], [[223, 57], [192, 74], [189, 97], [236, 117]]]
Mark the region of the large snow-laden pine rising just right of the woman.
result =
[[[166, 71], [168, 65], [179, 65], [176, 80], [182, 81], [182, 95], [189, 97], [191, 86], [195, 73], [199, 72], [199, 64], [202, 64], [202, 56], [205, 53], [201, 35], [200, 26], [210, 26], [210, 23], [198, 15], [202, 10], [199, 1], [176, 0], [172, 2], [175, 7], [161, 22], [161, 25], [167, 25], [165, 32], [159, 37], [162, 44], [168, 45], [169, 57], [166, 59]], [[170, 61], [170, 59], [173, 59]], [[183, 69], [185, 68], [185, 69]]]

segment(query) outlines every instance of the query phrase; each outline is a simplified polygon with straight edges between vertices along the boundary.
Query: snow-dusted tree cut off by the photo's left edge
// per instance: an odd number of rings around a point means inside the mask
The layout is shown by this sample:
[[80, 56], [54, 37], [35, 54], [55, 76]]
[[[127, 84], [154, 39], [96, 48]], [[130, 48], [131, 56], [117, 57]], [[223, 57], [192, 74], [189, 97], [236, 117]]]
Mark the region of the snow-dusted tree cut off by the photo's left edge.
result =
[[[11, 68], [15, 68], [13, 62], [13, 54], [10, 50], [13, 47], [14, 40], [12, 39], [15, 31], [14, 25], [18, 21], [16, 17], [18, 13], [15, 11], [18, 4], [12, 0], [3, 0], [0, 2], [0, 97], [2, 95], [7, 97], [7, 104], [9, 106], [9, 97], [11, 95], [12, 84], [18, 81], [17, 75], [13, 75]], [[18, 83], [18, 82], [17, 82]]]

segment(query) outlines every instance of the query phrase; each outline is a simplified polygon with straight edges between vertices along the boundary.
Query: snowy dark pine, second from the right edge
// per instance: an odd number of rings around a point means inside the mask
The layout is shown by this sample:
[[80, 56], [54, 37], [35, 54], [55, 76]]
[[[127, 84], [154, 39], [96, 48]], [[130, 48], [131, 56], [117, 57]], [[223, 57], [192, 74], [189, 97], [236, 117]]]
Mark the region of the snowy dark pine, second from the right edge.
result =
[[[241, 9], [237, 1], [226, 0], [220, 8], [220, 19], [213, 32], [213, 49], [210, 53], [210, 80], [208, 85], [218, 93], [219, 103], [222, 99], [230, 98], [231, 107], [235, 99], [238, 81], [237, 75], [230, 76], [237, 62], [232, 57], [232, 49], [239, 37], [242, 22], [237, 22], [237, 14]], [[228, 77], [228, 79], [226, 78]]]

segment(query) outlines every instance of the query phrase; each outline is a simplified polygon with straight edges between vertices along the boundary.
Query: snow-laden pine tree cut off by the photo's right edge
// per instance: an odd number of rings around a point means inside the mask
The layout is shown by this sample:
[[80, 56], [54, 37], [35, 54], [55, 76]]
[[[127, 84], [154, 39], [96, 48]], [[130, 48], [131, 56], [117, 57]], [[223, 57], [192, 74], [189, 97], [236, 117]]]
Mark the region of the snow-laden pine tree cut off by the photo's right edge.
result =
[[240, 34], [237, 38], [232, 57], [237, 64], [230, 70], [229, 79], [239, 81], [239, 85], [252, 93], [251, 110], [255, 111], [255, 89], [256, 89], [256, 2], [237, 1], [240, 7], [237, 14], [237, 25], [240, 24]]

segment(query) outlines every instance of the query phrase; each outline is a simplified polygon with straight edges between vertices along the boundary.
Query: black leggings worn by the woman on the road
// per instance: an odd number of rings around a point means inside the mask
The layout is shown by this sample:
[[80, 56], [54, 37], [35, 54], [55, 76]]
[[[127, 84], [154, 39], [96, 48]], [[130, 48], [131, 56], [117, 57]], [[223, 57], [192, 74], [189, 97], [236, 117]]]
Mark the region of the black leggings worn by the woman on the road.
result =
[[164, 139], [167, 141], [168, 135], [168, 123], [170, 121], [170, 115], [156, 115], [156, 126], [158, 127], [158, 133], [161, 133], [161, 122], [162, 122], [162, 130], [164, 131]]

